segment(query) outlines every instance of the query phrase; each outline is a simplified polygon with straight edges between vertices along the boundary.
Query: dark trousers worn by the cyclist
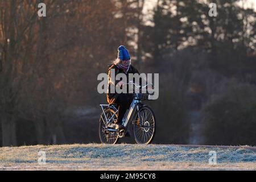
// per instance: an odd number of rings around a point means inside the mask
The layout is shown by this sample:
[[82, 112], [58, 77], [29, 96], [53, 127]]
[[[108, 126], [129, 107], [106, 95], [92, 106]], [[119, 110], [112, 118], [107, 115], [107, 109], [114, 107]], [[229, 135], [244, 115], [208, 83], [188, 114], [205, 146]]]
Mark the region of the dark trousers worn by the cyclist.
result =
[[115, 104], [118, 105], [117, 123], [122, 123], [125, 112], [129, 109], [132, 101], [133, 96], [131, 94], [121, 93], [118, 95], [117, 100], [115, 101]]

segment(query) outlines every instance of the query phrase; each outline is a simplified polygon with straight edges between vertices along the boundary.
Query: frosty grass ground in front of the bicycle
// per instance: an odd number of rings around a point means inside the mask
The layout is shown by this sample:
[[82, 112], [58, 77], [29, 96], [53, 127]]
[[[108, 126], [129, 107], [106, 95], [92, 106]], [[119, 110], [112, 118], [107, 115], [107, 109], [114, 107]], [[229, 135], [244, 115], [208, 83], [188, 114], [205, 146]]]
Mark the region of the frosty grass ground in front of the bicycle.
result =
[[[39, 164], [45, 151], [46, 164]], [[217, 164], [209, 164], [216, 151]], [[0, 148], [0, 170], [256, 170], [256, 147], [72, 144]]]

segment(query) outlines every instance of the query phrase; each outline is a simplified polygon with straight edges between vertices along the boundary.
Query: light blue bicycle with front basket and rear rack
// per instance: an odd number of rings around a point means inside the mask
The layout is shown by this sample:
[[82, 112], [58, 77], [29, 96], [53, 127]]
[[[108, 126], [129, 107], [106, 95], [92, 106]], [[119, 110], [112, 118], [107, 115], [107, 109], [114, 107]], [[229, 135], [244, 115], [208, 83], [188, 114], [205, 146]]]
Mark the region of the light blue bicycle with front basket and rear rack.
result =
[[[134, 84], [134, 83], [129, 83]], [[127, 85], [129, 85], [127, 84]], [[138, 86], [134, 84], [135, 88], [146, 88], [145, 86]], [[130, 108], [126, 111], [122, 119], [122, 125], [125, 126], [123, 130], [116, 130], [113, 128], [117, 120], [117, 105], [101, 104], [101, 117], [99, 123], [99, 135], [101, 143], [116, 144], [119, 138], [125, 137], [130, 123], [133, 125], [133, 134], [135, 142], [138, 144], [150, 144], [155, 137], [156, 120], [154, 111], [147, 105], [143, 105], [142, 101], [150, 100], [148, 93], [135, 93]]]

